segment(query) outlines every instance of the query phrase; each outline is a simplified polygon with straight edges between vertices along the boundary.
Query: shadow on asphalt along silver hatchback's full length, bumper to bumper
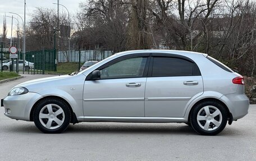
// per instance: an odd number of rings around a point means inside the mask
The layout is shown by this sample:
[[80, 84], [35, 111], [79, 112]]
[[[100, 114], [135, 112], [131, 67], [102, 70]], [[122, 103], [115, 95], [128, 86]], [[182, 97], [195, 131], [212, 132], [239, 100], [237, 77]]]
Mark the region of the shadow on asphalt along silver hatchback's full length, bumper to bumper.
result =
[[[3, 129], [2, 129], [3, 130]], [[35, 125], [22, 124], [6, 129], [22, 134], [43, 134]], [[116, 122], [81, 122], [69, 125], [63, 134], [147, 134], [147, 135], [199, 135], [185, 123], [116, 123]], [[225, 128], [217, 136], [245, 135], [239, 129]]]

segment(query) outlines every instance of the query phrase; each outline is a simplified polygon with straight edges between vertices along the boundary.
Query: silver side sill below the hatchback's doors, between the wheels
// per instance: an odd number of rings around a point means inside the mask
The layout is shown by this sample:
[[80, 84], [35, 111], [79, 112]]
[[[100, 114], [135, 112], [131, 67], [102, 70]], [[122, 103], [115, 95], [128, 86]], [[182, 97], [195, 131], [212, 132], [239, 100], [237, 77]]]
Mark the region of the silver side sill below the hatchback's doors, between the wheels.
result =
[[77, 117], [78, 121], [87, 122], [187, 122], [187, 119], [182, 117], [97, 117], [97, 116], [85, 116]]

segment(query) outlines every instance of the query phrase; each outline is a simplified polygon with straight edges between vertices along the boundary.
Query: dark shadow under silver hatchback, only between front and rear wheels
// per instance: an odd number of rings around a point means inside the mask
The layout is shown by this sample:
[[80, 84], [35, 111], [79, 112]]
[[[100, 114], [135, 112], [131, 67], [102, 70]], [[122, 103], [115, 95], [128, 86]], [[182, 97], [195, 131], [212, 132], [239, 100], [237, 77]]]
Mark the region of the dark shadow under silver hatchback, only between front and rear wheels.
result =
[[[173, 125], [175, 124], [175, 125]], [[181, 134], [198, 135], [193, 128], [184, 123], [79, 123], [68, 126], [65, 133], [88, 133], [88, 134]]]

